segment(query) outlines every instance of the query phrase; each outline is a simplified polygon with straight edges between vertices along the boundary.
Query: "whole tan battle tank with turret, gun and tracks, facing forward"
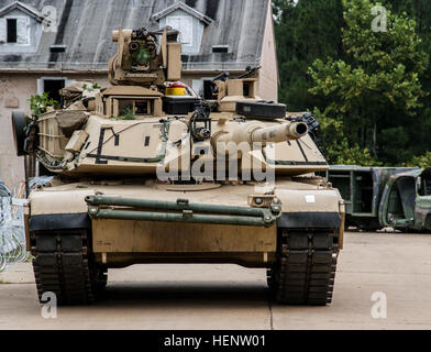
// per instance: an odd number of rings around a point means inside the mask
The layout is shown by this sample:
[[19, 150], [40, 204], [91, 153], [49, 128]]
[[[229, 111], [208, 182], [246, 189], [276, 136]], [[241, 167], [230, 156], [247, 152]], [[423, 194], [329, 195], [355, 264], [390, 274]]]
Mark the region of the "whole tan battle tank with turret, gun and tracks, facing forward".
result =
[[328, 169], [309, 133], [316, 120], [262, 101], [253, 70], [217, 77], [201, 101], [178, 82], [176, 37], [115, 31], [112, 86], [16, 138], [55, 175], [29, 197], [40, 298], [92, 302], [113, 267], [236, 263], [266, 267], [280, 302], [330, 302], [344, 205], [313, 174]]

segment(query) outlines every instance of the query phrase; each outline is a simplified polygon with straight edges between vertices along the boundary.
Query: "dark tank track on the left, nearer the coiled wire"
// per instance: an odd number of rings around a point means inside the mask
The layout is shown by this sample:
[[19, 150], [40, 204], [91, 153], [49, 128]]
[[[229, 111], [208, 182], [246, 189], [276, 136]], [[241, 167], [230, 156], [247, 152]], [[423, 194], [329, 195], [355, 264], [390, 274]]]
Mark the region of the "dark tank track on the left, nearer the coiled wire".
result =
[[35, 232], [31, 243], [41, 302], [51, 292], [59, 306], [88, 305], [107, 285], [108, 271], [92, 263], [86, 230]]

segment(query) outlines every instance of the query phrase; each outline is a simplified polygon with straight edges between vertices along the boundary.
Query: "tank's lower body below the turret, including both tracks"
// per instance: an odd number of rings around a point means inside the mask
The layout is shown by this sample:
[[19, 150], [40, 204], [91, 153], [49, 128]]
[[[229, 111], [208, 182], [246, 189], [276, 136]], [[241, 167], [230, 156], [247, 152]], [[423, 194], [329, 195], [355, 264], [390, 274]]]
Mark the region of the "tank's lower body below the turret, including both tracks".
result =
[[[90, 304], [110, 267], [234, 263], [266, 267], [270, 293], [280, 302], [327, 305], [343, 245], [344, 205], [338, 190], [318, 180], [277, 180], [280, 209], [272, 219], [267, 210], [251, 207], [251, 197], [262, 195], [265, 185], [187, 190], [155, 180], [82, 182], [34, 190], [26, 230], [40, 299], [54, 292], [62, 305]], [[96, 205], [109, 216], [95, 211]]]

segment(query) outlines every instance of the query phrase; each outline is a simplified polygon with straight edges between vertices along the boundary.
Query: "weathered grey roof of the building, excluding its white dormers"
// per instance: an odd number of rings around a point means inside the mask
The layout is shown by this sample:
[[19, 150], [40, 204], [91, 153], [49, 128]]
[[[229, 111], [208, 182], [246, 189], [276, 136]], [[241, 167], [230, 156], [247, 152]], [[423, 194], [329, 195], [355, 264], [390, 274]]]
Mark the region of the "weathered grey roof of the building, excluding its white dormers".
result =
[[[199, 54], [183, 55], [186, 70], [243, 70], [258, 65], [269, 0], [22, 0], [26, 8], [44, 13], [57, 10], [58, 30], [44, 32], [37, 53], [0, 54], [0, 70], [107, 70], [117, 52], [111, 32], [119, 26], [158, 30], [157, 19], [178, 8], [194, 11], [206, 24]], [[4, 7], [16, 1], [3, 0]], [[186, 8], [187, 7], [187, 8]], [[51, 53], [53, 45], [65, 53]], [[224, 45], [229, 53], [213, 53]]]

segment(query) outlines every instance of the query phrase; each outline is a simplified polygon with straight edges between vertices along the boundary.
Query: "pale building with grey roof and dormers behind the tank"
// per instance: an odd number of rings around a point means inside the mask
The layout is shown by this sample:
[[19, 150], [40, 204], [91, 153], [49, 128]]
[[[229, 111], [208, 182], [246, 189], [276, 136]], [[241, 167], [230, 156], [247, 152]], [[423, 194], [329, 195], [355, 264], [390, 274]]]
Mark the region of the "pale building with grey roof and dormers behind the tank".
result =
[[262, 66], [259, 96], [277, 100], [278, 70], [269, 0], [0, 0], [0, 179], [23, 179], [11, 134], [12, 110], [71, 80], [107, 86], [119, 26], [179, 30], [183, 81], [202, 96], [221, 72]]

